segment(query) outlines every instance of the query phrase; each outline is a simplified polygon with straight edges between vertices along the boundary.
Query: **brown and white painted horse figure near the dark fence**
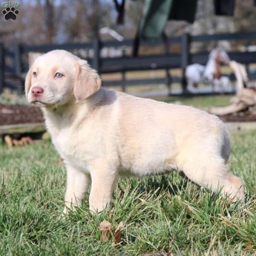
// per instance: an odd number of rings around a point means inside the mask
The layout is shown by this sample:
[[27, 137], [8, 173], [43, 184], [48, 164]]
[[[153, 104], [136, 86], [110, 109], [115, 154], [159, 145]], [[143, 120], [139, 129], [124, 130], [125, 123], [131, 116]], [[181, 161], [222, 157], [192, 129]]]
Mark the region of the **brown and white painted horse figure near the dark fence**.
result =
[[209, 53], [206, 66], [201, 64], [187, 66], [185, 72], [187, 89], [190, 92], [196, 92], [199, 83], [212, 84], [213, 89], [228, 84], [228, 77], [221, 76], [221, 64], [228, 64], [229, 61], [227, 52], [218, 47]]

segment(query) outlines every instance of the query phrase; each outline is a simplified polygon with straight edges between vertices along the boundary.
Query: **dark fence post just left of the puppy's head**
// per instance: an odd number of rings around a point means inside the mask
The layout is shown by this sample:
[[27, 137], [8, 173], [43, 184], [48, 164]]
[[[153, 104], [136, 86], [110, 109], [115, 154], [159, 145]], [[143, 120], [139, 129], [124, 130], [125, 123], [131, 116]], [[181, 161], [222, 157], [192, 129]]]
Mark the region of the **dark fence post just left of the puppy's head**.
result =
[[14, 46], [14, 65], [15, 76], [17, 80], [17, 93], [21, 95], [24, 92], [24, 83], [21, 77], [21, 45], [15, 44]]

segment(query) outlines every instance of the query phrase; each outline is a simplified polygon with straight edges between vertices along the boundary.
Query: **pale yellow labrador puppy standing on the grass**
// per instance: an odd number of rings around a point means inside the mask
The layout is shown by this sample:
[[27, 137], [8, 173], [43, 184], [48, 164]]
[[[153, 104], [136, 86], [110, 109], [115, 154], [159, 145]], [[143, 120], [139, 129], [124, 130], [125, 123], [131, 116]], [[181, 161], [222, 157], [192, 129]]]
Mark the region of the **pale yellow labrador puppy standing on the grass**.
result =
[[67, 167], [67, 207], [80, 205], [91, 185], [90, 209], [101, 211], [119, 175], [174, 169], [213, 191], [244, 198], [241, 178], [228, 170], [230, 141], [216, 116], [102, 89], [87, 61], [64, 50], [38, 57], [25, 89], [28, 102], [41, 106]]

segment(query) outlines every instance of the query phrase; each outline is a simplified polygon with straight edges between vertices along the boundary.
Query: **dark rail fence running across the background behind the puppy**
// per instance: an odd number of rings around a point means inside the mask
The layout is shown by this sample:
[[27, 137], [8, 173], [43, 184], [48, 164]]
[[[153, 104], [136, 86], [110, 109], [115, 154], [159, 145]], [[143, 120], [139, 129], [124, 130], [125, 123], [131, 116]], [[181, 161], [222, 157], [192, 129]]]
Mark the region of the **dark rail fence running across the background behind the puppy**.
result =
[[[256, 32], [244, 33], [226, 33], [217, 35], [198, 35], [191, 36], [184, 34], [180, 37], [167, 38], [165, 42], [143, 42], [144, 46], [165, 45], [166, 52], [161, 55], [139, 55], [132, 57], [130, 55], [122, 55], [119, 57], [102, 57], [100, 51], [108, 47], [132, 47], [133, 40], [119, 41], [99, 41], [95, 40], [92, 43], [74, 43], [74, 44], [45, 44], [29, 46], [25, 44], [15, 44], [12, 47], [4, 47], [0, 44], [0, 93], [4, 87], [15, 89], [9, 83], [9, 79], [16, 80], [16, 89], [21, 94], [24, 91], [24, 73], [27, 71], [25, 63], [27, 62], [28, 52], [48, 52], [53, 49], [65, 49], [68, 51], [84, 50], [87, 52], [86, 59], [89, 64], [98, 70], [100, 74], [105, 73], [122, 73], [122, 79], [118, 81], [103, 81], [103, 86], [122, 86], [125, 90], [126, 85], [143, 85], [143, 84], [166, 84], [168, 88], [174, 82], [180, 82], [183, 89], [186, 87], [184, 77], [187, 65], [192, 63], [206, 64], [209, 52], [191, 53], [191, 43], [193, 42], [209, 42], [221, 40], [256, 40]], [[169, 52], [169, 46], [179, 44], [180, 54], [172, 54]], [[93, 52], [93, 55], [89, 54]], [[256, 63], [256, 51], [253, 52], [228, 52], [230, 59], [240, 62], [241, 64]], [[170, 69], [180, 68], [182, 76], [171, 76]], [[128, 71], [140, 70], [166, 70], [164, 78], [153, 79], [126, 79], [125, 73]], [[256, 73], [248, 73], [249, 79], [256, 79]]]

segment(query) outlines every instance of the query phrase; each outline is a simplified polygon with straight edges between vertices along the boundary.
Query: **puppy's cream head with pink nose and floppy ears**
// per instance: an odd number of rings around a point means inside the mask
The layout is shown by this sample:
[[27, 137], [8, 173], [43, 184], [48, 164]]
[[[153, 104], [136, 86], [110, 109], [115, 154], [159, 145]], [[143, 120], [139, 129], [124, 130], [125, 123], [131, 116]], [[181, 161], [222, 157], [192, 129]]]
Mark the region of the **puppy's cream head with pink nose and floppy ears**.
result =
[[82, 101], [100, 86], [99, 75], [87, 61], [54, 50], [35, 59], [26, 75], [25, 93], [29, 103], [47, 107]]

